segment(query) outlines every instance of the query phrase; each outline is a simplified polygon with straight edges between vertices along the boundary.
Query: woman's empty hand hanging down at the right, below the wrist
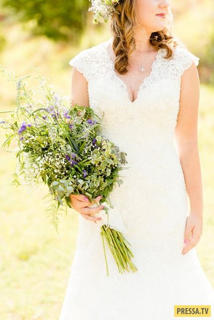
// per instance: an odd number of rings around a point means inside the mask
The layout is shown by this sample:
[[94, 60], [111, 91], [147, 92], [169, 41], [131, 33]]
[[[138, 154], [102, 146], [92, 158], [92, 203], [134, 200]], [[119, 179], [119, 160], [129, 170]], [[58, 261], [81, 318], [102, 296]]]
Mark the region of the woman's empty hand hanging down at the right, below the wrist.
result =
[[[186, 219], [186, 227], [184, 233], [184, 247], [182, 254], [187, 253], [190, 249], [195, 247], [201, 239], [203, 231], [203, 216], [190, 213]], [[192, 234], [191, 234], [192, 233]], [[191, 234], [191, 239], [190, 239]]]

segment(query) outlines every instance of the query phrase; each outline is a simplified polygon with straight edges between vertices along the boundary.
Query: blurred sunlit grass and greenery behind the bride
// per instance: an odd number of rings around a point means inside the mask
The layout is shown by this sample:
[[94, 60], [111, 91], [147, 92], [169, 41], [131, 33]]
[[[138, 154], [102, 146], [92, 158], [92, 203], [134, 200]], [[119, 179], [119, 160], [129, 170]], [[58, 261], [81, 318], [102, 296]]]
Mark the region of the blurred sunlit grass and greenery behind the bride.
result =
[[[18, 76], [37, 67], [59, 94], [71, 95], [70, 59], [111, 37], [109, 24], [93, 25], [89, 6], [88, 0], [0, 0], [0, 63]], [[174, 36], [200, 57], [204, 230], [196, 248], [214, 286], [214, 1], [171, 0], [171, 7]], [[15, 94], [14, 84], [0, 76], [1, 110], [15, 107]], [[1, 135], [0, 144], [4, 140]], [[14, 170], [15, 158], [0, 149], [0, 320], [58, 320], [78, 213], [60, 216], [58, 235], [45, 215], [47, 189], [28, 194], [24, 187], [10, 185]]]

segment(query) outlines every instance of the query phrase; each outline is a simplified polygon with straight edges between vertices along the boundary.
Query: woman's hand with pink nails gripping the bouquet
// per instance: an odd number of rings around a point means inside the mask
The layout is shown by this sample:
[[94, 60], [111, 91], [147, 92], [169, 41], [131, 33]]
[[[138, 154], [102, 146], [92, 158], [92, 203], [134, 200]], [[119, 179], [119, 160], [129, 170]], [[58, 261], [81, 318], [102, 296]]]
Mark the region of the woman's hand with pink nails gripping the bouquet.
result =
[[97, 223], [96, 220], [102, 219], [101, 217], [91, 216], [91, 214], [100, 212], [104, 208], [104, 206], [88, 208], [88, 206], [98, 203], [101, 200], [102, 196], [98, 196], [97, 198], [95, 198], [94, 203], [91, 203], [88, 198], [84, 196], [84, 194], [70, 194], [70, 198], [71, 207], [78, 213], [80, 213], [86, 220], [91, 220]]

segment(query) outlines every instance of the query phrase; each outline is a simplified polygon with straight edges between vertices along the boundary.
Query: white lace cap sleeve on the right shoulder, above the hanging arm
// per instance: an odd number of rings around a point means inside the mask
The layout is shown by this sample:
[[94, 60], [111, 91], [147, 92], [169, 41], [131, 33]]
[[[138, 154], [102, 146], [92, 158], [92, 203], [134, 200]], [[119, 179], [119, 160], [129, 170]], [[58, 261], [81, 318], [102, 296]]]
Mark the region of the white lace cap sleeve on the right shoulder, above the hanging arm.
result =
[[192, 65], [194, 62], [196, 67], [199, 64], [199, 57], [196, 57], [193, 53], [188, 51], [186, 48], [177, 48], [177, 60], [178, 60], [178, 70], [179, 74], [182, 75], [183, 72]]

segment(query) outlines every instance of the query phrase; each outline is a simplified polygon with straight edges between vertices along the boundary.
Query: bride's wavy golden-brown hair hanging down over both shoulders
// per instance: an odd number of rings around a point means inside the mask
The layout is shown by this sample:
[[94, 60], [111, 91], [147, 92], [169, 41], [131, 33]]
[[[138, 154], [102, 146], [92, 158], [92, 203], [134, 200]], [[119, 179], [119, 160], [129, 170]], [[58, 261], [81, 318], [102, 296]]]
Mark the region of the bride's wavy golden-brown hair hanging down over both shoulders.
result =
[[[133, 27], [135, 22], [140, 24], [137, 19], [136, 0], [122, 0], [116, 4], [115, 9], [110, 22], [112, 48], [115, 54], [114, 67], [120, 74], [124, 74], [128, 71], [129, 56], [136, 50]], [[168, 7], [164, 29], [151, 33], [149, 39], [152, 46], [166, 49], [166, 59], [173, 58], [173, 48], [181, 43], [172, 36], [173, 18], [171, 8]]]

